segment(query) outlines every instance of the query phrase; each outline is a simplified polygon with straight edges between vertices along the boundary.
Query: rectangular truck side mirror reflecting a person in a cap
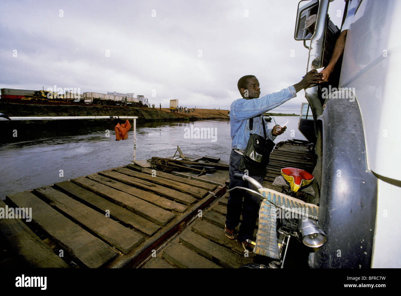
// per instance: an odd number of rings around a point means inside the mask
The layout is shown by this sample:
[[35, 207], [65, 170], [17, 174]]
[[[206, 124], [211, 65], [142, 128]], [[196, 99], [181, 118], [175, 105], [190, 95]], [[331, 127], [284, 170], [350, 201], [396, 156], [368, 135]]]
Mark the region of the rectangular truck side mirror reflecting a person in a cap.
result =
[[310, 40], [310, 38], [312, 38], [315, 32], [318, 9], [318, 0], [302, 0], [298, 3], [294, 32], [295, 40]]

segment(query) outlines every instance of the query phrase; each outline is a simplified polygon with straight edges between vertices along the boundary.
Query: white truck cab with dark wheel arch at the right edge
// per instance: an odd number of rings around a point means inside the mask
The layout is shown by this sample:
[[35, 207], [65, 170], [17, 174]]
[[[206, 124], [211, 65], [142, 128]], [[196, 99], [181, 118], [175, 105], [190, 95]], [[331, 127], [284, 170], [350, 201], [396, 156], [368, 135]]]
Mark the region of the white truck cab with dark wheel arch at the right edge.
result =
[[[306, 72], [326, 67], [334, 50], [339, 29], [330, 21], [329, 5], [329, 0], [298, 4], [294, 38], [308, 50]], [[299, 129], [316, 146], [318, 224], [327, 235], [311, 267], [401, 267], [399, 13], [400, 1], [358, 1], [342, 60], [327, 83], [305, 90], [308, 104]], [[307, 38], [303, 29], [313, 14]], [[343, 22], [346, 14], [344, 9]]]

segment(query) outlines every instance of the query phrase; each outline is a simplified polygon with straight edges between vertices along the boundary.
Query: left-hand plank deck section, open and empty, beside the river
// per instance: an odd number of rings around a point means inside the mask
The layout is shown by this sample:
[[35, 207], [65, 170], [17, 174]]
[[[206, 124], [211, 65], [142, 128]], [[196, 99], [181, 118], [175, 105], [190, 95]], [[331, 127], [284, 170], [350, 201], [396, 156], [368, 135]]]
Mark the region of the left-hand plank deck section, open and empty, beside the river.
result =
[[0, 207], [32, 208], [32, 221], [0, 219], [0, 266], [135, 266], [224, 192], [130, 165], [10, 194]]

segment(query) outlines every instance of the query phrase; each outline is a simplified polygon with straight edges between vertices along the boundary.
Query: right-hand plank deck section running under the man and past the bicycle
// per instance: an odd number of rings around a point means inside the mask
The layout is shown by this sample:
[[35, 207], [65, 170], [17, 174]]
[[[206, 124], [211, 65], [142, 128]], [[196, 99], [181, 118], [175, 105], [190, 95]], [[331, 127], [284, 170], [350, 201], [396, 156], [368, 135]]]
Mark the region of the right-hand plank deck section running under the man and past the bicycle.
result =
[[[291, 149], [292, 146], [295, 149]], [[264, 187], [277, 191], [281, 191], [281, 188], [273, 186], [272, 182], [275, 177], [281, 175], [281, 168], [293, 166], [312, 172], [316, 165], [316, 156], [308, 151], [305, 146], [284, 144], [280, 148], [271, 153], [267, 174], [263, 181]], [[145, 261], [140, 267], [239, 268], [247, 263], [267, 265], [269, 258], [256, 256], [252, 253], [246, 254], [240, 242], [230, 240], [224, 235], [228, 197], [229, 194], [227, 193], [219, 198], [206, 212], [203, 212], [202, 218], [197, 218], [184, 232], [165, 248], [159, 250], [157, 254], [154, 254], [154, 257], [148, 258], [148, 261]], [[240, 223], [241, 221], [242, 216]], [[258, 221], [255, 224], [253, 240], [257, 234], [257, 226]], [[236, 230], [239, 230], [238, 226]], [[302, 247], [296, 242], [292, 244], [296, 248]]]

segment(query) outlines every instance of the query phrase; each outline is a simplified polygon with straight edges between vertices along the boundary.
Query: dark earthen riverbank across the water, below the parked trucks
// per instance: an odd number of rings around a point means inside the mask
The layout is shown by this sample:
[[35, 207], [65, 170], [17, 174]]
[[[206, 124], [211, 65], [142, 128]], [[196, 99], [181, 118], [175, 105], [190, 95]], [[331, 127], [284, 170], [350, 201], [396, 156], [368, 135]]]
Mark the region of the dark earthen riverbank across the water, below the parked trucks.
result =
[[0, 112], [8, 116], [138, 116], [141, 122], [181, 120], [229, 120], [228, 110], [196, 109], [191, 114], [170, 112], [168, 108], [130, 106], [78, 106], [0, 103]]

